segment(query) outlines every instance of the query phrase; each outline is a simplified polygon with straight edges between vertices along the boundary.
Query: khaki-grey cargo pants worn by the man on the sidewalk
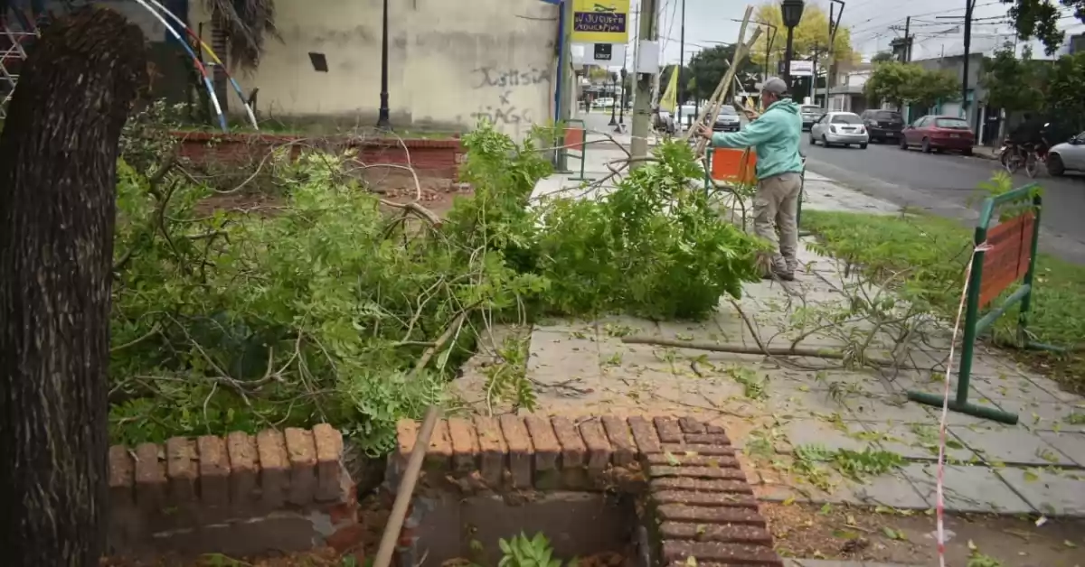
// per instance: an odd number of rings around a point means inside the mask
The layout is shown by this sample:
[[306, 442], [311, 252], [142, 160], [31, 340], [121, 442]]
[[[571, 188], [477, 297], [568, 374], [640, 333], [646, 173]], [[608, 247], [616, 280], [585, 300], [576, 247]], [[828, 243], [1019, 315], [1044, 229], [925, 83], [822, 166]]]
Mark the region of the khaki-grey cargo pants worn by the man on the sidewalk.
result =
[[[762, 239], [773, 243], [773, 270], [791, 273], [799, 261], [799, 192], [802, 190], [799, 173], [780, 173], [757, 183], [757, 194], [753, 197], [753, 230]], [[780, 227], [777, 241], [775, 225]]]

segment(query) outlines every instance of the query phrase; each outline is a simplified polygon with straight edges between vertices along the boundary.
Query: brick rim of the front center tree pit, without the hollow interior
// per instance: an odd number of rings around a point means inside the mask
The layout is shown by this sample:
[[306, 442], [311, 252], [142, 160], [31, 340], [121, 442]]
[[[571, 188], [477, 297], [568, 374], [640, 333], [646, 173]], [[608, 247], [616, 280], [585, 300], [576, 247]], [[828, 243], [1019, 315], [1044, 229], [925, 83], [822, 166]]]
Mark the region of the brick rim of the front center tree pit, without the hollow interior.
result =
[[[399, 424], [390, 481], [398, 482], [417, 435], [414, 422]], [[640, 501], [648, 552], [656, 565], [689, 565], [689, 557], [698, 565], [783, 565], [727, 435], [689, 417], [442, 421], [420, 487], [400, 534], [400, 552], [408, 557], [426, 553], [416, 528], [433, 508], [425, 502], [432, 500], [427, 492], [503, 494], [515, 504], [533, 501], [523, 495], [531, 492], [605, 490]], [[510, 536], [520, 531], [507, 529]]]

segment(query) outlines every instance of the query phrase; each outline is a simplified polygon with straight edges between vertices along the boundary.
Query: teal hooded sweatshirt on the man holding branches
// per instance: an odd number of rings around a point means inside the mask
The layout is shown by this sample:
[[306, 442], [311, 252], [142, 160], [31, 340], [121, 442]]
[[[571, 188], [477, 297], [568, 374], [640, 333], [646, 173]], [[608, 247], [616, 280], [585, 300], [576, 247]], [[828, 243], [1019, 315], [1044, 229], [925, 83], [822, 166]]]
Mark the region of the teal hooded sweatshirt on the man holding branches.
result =
[[799, 156], [803, 119], [799, 105], [781, 99], [738, 132], [712, 134], [713, 147], [753, 147], [757, 152], [757, 179], [803, 170]]

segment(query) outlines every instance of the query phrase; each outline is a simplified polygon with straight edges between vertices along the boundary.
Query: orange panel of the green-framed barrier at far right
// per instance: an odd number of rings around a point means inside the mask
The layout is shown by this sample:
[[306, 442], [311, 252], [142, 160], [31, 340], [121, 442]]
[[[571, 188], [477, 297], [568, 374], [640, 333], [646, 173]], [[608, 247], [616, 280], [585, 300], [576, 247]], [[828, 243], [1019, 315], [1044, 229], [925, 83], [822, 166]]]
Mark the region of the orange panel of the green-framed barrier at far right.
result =
[[983, 254], [980, 307], [990, 305], [1029, 271], [1035, 223], [1036, 216], [1029, 211], [987, 231], [991, 249]]

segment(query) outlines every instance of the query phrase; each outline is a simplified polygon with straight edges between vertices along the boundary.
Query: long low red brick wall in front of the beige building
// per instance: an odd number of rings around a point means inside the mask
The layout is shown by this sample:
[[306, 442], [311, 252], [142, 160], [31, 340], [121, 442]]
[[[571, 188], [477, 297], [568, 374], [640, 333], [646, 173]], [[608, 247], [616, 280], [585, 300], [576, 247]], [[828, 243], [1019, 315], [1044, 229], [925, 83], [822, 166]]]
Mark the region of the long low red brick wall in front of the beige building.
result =
[[[290, 146], [296, 157], [304, 147], [320, 146], [342, 151], [358, 150], [359, 164], [394, 164], [411, 166], [420, 177], [456, 180], [464, 150], [459, 139], [358, 139], [328, 137], [309, 139], [301, 136], [271, 133], [175, 132], [181, 141], [180, 155], [201, 164], [256, 164], [268, 152]], [[406, 149], [405, 149], [406, 146]]]

